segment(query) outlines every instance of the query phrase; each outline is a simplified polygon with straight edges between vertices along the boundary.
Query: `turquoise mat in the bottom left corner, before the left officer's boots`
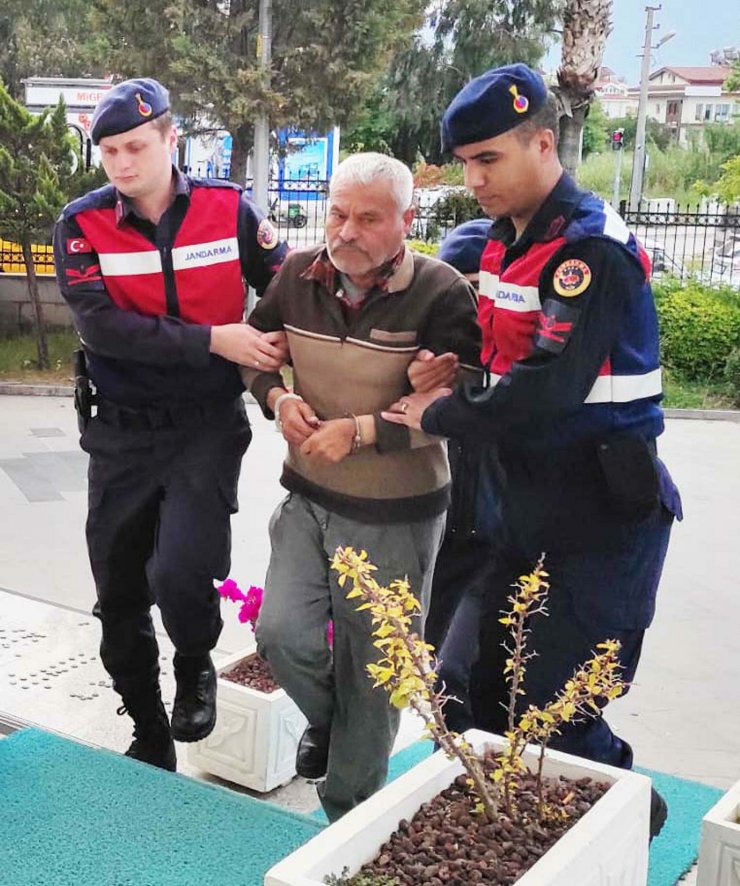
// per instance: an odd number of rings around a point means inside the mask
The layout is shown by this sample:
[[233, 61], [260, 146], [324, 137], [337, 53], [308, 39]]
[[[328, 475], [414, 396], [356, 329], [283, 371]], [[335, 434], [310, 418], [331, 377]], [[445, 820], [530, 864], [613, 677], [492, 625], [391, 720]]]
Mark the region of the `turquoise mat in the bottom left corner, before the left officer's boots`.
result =
[[2, 886], [262, 886], [315, 820], [35, 729], [0, 741]]

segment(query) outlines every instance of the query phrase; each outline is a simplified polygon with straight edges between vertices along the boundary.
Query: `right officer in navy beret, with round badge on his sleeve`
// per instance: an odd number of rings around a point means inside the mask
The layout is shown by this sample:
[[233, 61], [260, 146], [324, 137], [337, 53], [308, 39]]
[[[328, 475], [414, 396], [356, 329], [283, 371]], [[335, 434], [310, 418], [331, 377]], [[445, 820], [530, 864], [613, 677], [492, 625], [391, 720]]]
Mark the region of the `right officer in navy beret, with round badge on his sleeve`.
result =
[[[503, 529], [471, 702], [474, 725], [500, 733], [507, 653], [498, 619], [511, 584], [546, 553], [549, 617], [531, 623], [537, 657], [522, 705], [551, 700], [606, 638], [621, 642], [631, 682], [681, 506], [656, 454], [663, 414], [650, 263], [619, 215], [563, 172], [542, 78], [521, 64], [488, 71], [453, 99], [441, 131], [465, 184], [496, 218], [481, 261], [496, 383], [406, 396], [385, 417], [496, 447]], [[603, 716], [568, 725], [552, 744], [632, 765], [631, 747]], [[654, 793], [653, 835], [665, 817]]]

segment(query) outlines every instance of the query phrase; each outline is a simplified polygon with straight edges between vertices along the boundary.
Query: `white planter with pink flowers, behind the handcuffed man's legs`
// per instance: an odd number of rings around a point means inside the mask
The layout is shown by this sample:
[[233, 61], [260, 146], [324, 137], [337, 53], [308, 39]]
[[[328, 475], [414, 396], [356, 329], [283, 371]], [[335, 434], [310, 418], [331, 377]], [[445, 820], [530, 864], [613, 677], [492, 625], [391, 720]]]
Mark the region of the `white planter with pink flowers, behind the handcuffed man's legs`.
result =
[[271, 791], [295, 775], [298, 740], [306, 718], [283, 689], [257, 692], [221, 674], [256, 655], [242, 650], [217, 668], [216, 728], [188, 746], [188, 762], [255, 791]]

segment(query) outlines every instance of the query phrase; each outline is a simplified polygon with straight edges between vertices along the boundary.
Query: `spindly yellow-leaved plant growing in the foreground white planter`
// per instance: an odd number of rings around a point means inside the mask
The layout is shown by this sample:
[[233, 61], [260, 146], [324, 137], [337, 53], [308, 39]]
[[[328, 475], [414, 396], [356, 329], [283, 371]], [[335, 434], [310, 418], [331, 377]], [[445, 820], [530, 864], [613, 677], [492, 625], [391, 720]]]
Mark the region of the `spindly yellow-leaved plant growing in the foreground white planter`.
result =
[[483, 759], [463, 736], [451, 732], [445, 725], [443, 707], [448, 697], [436, 687], [434, 647], [412, 629], [413, 619], [420, 614], [421, 607], [408, 580], [396, 579], [387, 587], [381, 586], [373, 577], [377, 567], [369, 561], [367, 553], [358, 554], [351, 547], [337, 548], [331, 563], [331, 568], [339, 573], [341, 587], [351, 582], [347, 599], [359, 600], [358, 611], [370, 613], [376, 638], [374, 645], [382, 654], [377, 662], [367, 665], [374, 685], [383, 687], [397, 708], [410, 707], [416, 711], [424, 720], [428, 734], [445, 754], [460, 760], [476, 811], [489, 820], [496, 818], [502, 800], [507, 815], [517, 819], [520, 777], [528, 772], [522, 756], [527, 744], [540, 748], [535, 773], [537, 817], [540, 821], [563, 817], [564, 809], [552, 809], [545, 803], [543, 765], [547, 745], [561, 726], [582, 720], [592, 712], [598, 714], [599, 701], [610, 701], [624, 691], [625, 684], [619, 675], [620, 644], [617, 640], [605, 640], [552, 702], [544, 708], [529, 705], [517, 715], [517, 699], [525, 694], [526, 665], [535, 654], [527, 651], [527, 620], [536, 614], [547, 614], [549, 584], [543, 563], [544, 557], [541, 557], [532, 573], [520, 576], [513, 585], [514, 592], [508, 598], [511, 610], [500, 619], [512, 638], [511, 647], [505, 646], [508, 658], [504, 673], [509, 687], [507, 746], [496, 757], [496, 765], [488, 776]]

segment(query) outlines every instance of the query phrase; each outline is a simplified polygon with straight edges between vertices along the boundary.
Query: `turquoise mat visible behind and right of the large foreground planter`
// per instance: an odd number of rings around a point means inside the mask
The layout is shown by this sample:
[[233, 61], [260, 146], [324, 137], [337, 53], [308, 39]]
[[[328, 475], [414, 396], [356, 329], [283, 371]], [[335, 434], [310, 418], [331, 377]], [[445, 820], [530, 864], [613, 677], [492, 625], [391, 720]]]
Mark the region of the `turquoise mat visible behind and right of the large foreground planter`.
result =
[[[417, 741], [391, 757], [388, 780], [403, 775], [432, 753], [430, 741]], [[648, 886], [674, 886], [691, 868], [699, 853], [701, 820], [722, 796], [719, 788], [687, 781], [663, 772], [637, 768], [653, 780], [656, 790], [668, 804], [668, 821], [650, 845]], [[322, 809], [311, 813], [316, 821], [326, 822]]]

